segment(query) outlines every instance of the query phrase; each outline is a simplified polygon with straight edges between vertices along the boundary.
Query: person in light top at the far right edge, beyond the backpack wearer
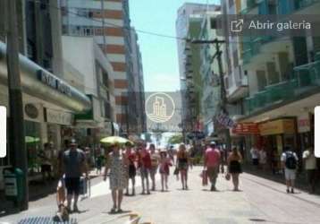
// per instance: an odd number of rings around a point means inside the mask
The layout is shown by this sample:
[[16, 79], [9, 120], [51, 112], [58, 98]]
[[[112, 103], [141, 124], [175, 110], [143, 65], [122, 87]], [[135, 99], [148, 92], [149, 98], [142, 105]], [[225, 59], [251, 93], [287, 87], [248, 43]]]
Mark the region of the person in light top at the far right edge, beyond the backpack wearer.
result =
[[316, 190], [316, 156], [313, 145], [303, 152], [303, 161], [307, 171], [307, 183], [309, 185], [309, 194], [314, 194]]

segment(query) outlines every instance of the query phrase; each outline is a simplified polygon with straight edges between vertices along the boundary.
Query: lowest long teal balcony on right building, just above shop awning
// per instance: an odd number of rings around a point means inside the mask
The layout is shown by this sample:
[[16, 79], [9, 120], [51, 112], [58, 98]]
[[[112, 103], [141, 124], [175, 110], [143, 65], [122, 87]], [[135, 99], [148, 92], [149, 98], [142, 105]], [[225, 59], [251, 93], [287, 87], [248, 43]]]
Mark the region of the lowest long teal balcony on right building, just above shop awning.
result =
[[265, 87], [245, 100], [246, 115], [251, 115], [277, 103], [285, 104], [292, 99], [308, 96], [320, 88], [320, 61], [294, 68], [290, 81]]

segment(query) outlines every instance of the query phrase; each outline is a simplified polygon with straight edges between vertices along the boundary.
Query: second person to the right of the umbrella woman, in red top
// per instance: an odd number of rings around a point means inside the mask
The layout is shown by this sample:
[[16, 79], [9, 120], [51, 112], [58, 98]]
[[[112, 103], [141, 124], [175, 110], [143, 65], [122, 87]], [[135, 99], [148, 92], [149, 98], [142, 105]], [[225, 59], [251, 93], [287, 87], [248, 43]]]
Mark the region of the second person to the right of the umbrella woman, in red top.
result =
[[139, 169], [142, 183], [141, 194], [146, 194], [146, 191], [147, 194], [150, 194], [149, 174], [151, 169], [151, 157], [150, 153], [146, 149], [146, 145], [143, 145], [143, 147], [139, 149]]

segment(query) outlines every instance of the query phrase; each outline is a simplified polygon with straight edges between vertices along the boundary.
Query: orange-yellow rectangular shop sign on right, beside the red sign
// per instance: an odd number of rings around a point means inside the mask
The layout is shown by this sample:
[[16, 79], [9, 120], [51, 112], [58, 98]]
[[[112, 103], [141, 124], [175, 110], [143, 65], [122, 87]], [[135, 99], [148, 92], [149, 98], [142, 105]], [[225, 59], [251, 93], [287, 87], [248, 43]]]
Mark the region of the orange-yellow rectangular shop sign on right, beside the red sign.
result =
[[294, 134], [296, 129], [292, 119], [280, 119], [259, 125], [261, 135]]

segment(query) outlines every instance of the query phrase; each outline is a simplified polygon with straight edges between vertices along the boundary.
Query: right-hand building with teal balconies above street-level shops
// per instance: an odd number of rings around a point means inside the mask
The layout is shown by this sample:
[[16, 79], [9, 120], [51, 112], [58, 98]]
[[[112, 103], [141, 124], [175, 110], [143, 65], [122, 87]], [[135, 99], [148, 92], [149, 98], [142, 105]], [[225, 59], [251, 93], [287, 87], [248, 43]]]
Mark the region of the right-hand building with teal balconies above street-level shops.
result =
[[[320, 1], [248, 0], [237, 8], [241, 14], [277, 14], [285, 20], [291, 14], [318, 14]], [[265, 147], [268, 160], [279, 158], [288, 146], [300, 157], [314, 142], [314, 108], [320, 100], [316, 29], [299, 37], [250, 36], [240, 46], [240, 62], [248, 75], [248, 98], [236, 131], [243, 133], [241, 125], [257, 130], [245, 135], [245, 143], [248, 148]], [[276, 161], [274, 171], [280, 165]]]

